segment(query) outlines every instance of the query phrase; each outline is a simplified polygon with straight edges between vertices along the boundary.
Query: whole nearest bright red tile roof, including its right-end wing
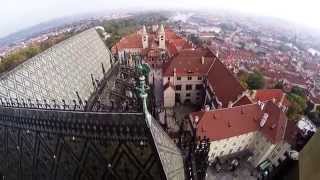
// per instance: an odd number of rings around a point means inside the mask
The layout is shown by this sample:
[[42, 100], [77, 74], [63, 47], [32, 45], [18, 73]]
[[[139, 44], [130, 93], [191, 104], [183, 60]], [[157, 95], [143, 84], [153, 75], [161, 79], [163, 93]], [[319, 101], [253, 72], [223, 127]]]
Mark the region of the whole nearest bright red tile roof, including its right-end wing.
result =
[[[260, 121], [267, 113], [263, 127]], [[254, 131], [260, 131], [273, 144], [284, 139], [287, 119], [281, 109], [271, 101], [265, 102], [261, 110], [258, 104], [248, 104], [207, 112], [191, 113], [193, 119], [199, 117], [197, 136], [205, 136], [211, 141], [226, 139]]]

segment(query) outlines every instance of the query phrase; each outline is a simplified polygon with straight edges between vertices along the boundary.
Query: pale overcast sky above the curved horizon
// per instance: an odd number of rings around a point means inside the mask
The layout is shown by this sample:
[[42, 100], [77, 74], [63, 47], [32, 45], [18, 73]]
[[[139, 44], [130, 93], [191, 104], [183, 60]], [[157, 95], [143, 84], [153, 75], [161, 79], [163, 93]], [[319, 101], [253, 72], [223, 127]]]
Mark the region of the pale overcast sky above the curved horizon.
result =
[[58, 17], [119, 8], [223, 8], [320, 29], [319, 0], [1, 0], [0, 37]]

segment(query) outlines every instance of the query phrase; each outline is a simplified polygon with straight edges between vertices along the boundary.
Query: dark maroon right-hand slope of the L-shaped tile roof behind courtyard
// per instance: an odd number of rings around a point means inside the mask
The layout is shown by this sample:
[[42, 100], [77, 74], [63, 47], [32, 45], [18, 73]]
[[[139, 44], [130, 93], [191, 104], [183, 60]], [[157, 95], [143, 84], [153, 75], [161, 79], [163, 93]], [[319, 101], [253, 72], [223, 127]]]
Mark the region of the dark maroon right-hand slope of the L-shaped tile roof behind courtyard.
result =
[[234, 102], [245, 91], [239, 81], [220, 60], [216, 60], [209, 70], [208, 82], [218, 100], [222, 103], [222, 107], [228, 107], [230, 101]]

